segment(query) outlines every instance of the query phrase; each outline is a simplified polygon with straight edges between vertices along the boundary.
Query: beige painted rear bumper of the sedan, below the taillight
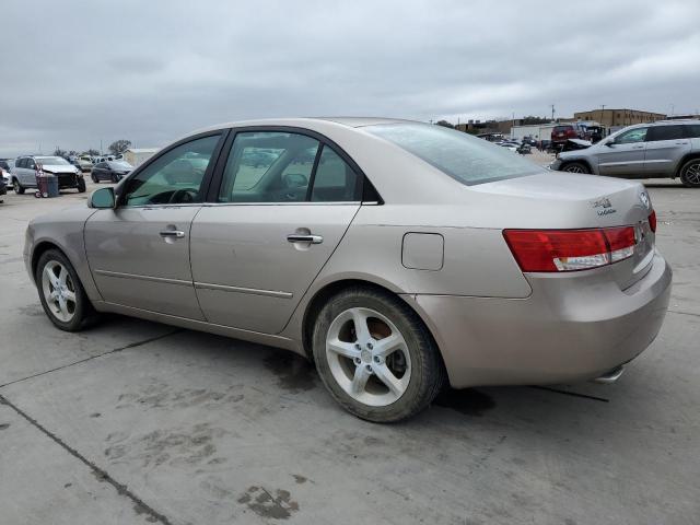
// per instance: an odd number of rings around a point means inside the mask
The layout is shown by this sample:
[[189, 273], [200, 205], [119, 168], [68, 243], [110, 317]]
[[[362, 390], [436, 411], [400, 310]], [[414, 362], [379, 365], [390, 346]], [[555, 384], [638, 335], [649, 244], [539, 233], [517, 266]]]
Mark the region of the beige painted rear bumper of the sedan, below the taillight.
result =
[[655, 254], [648, 273], [627, 290], [605, 269], [528, 280], [527, 299], [405, 296], [431, 328], [453, 387], [604, 376], [658, 334], [672, 270]]

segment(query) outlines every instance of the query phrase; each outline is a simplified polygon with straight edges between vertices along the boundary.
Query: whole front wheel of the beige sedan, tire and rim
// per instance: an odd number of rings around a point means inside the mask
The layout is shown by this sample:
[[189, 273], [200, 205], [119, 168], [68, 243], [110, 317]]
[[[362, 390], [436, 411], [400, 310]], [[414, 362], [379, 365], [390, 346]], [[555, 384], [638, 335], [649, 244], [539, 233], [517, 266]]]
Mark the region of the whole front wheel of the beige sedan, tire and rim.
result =
[[[48, 249], [42, 254], [36, 265], [35, 280], [44, 312], [57, 328], [80, 331], [96, 318], [78, 273], [58, 249]], [[57, 290], [59, 299], [49, 303], [49, 296], [56, 296]]]

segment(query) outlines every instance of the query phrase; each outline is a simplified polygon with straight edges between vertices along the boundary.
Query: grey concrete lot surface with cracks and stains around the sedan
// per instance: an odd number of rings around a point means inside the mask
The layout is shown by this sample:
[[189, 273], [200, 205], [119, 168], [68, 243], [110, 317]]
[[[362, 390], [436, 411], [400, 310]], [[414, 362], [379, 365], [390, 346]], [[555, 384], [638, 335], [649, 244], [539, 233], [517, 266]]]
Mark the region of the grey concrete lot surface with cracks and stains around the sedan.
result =
[[88, 194], [8, 195], [0, 523], [697, 524], [700, 191], [648, 183], [674, 291], [617, 384], [452, 390], [395, 425], [268, 347], [119, 316], [57, 330], [24, 230]]

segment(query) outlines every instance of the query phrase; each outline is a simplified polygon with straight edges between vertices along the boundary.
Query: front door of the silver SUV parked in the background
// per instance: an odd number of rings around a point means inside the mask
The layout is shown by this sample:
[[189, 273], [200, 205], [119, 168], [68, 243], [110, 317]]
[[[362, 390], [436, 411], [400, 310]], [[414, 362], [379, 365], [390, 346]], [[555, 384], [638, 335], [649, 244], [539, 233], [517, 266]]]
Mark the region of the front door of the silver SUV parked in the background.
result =
[[644, 177], [644, 150], [648, 128], [634, 128], [600, 143], [598, 171], [600, 175]]

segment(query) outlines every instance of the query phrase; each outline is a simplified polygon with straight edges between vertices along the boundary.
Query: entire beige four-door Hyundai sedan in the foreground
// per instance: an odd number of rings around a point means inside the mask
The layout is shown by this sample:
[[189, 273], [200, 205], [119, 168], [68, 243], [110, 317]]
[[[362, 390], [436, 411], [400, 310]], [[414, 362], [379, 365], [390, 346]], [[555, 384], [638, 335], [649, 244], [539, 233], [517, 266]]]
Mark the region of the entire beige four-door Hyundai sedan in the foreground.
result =
[[386, 422], [446, 384], [616, 380], [666, 313], [655, 230], [639, 183], [439, 126], [280, 119], [178, 140], [32, 221], [24, 254], [60, 329], [116, 312], [289, 349]]

